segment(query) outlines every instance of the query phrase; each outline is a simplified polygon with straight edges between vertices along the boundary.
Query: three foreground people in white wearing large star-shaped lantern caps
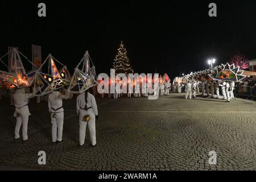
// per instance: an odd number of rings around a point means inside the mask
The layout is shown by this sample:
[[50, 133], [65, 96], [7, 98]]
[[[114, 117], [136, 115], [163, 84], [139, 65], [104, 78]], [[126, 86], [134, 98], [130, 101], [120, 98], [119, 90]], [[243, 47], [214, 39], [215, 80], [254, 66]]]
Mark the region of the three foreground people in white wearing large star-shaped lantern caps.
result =
[[[5, 63], [8, 57], [9, 64]], [[26, 60], [32, 65], [34, 71], [27, 72], [23, 61]], [[90, 59], [88, 51], [75, 68], [73, 76], [69, 74], [67, 67], [60, 63], [51, 54], [47, 59], [36, 67], [18, 49], [11, 49], [1, 57], [0, 90], [9, 90], [11, 100], [14, 102], [16, 126], [14, 131], [15, 140], [20, 139], [20, 127], [22, 126], [23, 142], [28, 140], [27, 126], [28, 118], [31, 115], [28, 109], [30, 98], [45, 98], [48, 102], [49, 113], [52, 123], [52, 143], [63, 142], [63, 121], [64, 109], [63, 99], [67, 100], [72, 94], [79, 94], [77, 97], [76, 110], [79, 116], [79, 146], [84, 144], [86, 126], [90, 131], [92, 145], [96, 145], [96, 125], [98, 118], [97, 104], [94, 96], [88, 89], [97, 85], [96, 70]], [[60, 65], [60, 69], [57, 68]]]

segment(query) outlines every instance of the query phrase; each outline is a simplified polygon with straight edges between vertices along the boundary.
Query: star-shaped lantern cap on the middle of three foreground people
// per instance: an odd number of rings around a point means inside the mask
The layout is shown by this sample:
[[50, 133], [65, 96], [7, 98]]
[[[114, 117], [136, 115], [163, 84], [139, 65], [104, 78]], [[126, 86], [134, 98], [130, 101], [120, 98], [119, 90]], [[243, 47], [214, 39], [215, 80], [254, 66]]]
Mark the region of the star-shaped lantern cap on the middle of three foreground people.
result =
[[[48, 63], [48, 71], [45, 71]], [[62, 68], [57, 69], [56, 63]], [[47, 57], [41, 67], [36, 71], [34, 89], [37, 90], [36, 96], [43, 96], [54, 90], [69, 85], [71, 76], [65, 65], [61, 64], [51, 54]]]

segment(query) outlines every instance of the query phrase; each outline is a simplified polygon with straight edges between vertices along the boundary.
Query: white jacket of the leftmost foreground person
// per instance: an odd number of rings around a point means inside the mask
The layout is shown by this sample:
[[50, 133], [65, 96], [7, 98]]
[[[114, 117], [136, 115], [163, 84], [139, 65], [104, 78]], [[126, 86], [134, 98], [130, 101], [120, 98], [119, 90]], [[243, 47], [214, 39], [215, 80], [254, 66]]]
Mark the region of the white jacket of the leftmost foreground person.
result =
[[26, 93], [25, 89], [16, 90], [15, 94], [13, 95], [15, 105], [14, 117], [17, 117], [17, 113], [19, 113], [21, 117], [27, 117], [31, 115], [27, 104], [29, 99], [32, 97], [34, 97], [34, 94]]

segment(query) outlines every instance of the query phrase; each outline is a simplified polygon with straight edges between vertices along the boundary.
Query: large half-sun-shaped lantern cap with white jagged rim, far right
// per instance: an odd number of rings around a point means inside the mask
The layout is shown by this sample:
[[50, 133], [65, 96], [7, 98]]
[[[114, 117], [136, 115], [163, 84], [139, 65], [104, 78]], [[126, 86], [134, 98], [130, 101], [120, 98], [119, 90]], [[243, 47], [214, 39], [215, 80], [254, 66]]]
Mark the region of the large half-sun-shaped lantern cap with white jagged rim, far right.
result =
[[210, 73], [209, 76], [214, 80], [237, 82], [246, 77], [243, 75], [243, 72], [244, 71], [241, 70], [240, 67], [226, 63], [215, 67], [214, 72]]

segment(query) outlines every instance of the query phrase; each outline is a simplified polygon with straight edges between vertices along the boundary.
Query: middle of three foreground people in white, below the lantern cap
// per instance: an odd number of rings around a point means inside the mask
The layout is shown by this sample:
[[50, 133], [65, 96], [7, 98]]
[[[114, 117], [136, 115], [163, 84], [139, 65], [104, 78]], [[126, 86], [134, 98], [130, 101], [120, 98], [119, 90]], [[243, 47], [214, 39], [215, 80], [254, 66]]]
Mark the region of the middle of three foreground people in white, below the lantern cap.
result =
[[48, 96], [48, 108], [51, 113], [52, 143], [63, 142], [64, 109], [63, 99], [69, 98], [69, 93], [53, 91]]

